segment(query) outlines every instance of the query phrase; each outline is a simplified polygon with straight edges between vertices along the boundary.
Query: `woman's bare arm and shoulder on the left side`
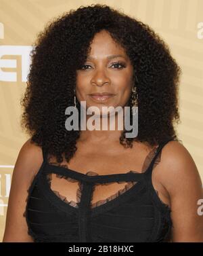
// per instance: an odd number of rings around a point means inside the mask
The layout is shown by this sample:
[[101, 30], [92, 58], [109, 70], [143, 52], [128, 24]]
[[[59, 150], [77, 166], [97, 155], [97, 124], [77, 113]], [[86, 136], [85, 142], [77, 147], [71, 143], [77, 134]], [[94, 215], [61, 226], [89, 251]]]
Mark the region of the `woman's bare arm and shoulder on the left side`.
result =
[[26, 209], [27, 190], [42, 162], [41, 147], [31, 144], [29, 139], [20, 149], [14, 167], [2, 242], [33, 242], [28, 235], [23, 214]]

